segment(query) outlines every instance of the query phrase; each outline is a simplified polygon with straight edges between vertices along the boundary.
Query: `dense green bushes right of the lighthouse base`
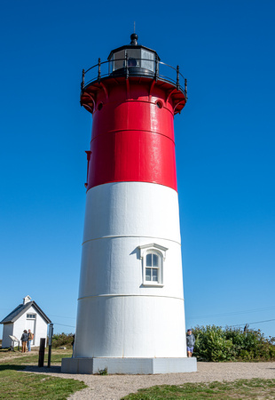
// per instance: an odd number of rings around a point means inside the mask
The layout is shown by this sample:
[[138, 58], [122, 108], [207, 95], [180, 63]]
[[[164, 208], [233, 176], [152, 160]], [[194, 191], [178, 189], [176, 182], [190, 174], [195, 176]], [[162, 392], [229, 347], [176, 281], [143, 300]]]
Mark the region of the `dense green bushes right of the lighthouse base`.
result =
[[194, 356], [200, 361], [268, 361], [275, 359], [275, 338], [264, 338], [253, 330], [216, 325], [193, 328], [196, 342]]

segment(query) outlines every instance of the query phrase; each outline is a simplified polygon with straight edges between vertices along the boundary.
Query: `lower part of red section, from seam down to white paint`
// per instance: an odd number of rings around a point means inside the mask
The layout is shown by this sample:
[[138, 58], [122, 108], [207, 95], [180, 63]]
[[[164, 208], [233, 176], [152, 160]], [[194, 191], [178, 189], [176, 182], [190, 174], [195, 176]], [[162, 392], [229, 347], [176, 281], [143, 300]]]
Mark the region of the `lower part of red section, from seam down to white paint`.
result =
[[107, 182], [152, 182], [177, 190], [175, 145], [153, 132], [106, 132], [91, 142], [88, 189]]

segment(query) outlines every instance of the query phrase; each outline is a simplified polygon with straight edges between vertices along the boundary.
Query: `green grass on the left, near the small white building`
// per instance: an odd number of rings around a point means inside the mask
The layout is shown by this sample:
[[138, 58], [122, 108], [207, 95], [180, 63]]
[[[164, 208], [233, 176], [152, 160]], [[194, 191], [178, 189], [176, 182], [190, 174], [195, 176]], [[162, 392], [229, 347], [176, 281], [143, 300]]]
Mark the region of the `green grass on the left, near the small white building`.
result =
[[[61, 364], [63, 357], [71, 355], [71, 350], [54, 349], [51, 353], [51, 364]], [[80, 380], [22, 372], [27, 365], [37, 366], [37, 364], [38, 351], [22, 355], [19, 351], [0, 350], [0, 399], [61, 400], [77, 390], [87, 388]], [[45, 355], [44, 366], [47, 366], [47, 355]]]

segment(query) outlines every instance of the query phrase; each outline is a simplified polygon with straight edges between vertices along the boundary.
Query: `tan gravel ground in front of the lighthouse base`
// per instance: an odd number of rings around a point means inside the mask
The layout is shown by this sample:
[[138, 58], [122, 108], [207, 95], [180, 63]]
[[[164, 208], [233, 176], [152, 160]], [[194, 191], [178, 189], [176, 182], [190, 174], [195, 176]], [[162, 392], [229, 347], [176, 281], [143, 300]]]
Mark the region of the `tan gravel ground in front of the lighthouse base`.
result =
[[119, 400], [122, 396], [137, 392], [138, 388], [155, 385], [251, 378], [275, 379], [275, 363], [198, 363], [198, 372], [160, 375], [75, 375], [61, 373], [59, 366], [51, 366], [50, 369], [27, 367], [27, 372], [83, 380], [89, 388], [69, 396], [70, 400]]

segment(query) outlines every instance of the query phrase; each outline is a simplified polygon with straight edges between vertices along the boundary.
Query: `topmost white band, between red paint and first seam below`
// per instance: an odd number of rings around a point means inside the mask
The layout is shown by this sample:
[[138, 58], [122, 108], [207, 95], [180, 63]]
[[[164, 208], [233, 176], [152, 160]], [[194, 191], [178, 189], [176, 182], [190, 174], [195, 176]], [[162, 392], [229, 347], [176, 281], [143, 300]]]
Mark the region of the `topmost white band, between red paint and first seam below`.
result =
[[177, 192], [146, 182], [114, 182], [91, 188], [83, 243], [106, 236], [161, 237], [180, 243]]

